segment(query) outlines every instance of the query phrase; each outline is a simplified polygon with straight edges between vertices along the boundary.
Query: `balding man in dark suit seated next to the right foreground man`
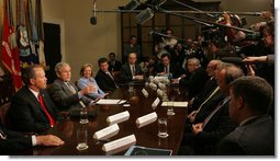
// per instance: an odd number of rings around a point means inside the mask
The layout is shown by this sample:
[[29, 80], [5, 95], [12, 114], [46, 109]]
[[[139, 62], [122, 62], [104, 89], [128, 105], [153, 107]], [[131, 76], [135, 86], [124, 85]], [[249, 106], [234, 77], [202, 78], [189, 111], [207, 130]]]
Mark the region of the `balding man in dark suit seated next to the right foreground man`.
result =
[[[216, 143], [237, 126], [228, 116], [229, 83], [243, 77], [242, 69], [234, 65], [220, 66], [216, 81], [221, 92], [225, 95], [211, 114], [202, 122], [192, 125], [192, 131], [184, 134], [182, 145], [193, 149], [192, 154], [213, 154]], [[186, 148], [186, 147], [184, 147]], [[188, 153], [181, 148], [180, 154]], [[189, 151], [190, 152], [190, 151]]]

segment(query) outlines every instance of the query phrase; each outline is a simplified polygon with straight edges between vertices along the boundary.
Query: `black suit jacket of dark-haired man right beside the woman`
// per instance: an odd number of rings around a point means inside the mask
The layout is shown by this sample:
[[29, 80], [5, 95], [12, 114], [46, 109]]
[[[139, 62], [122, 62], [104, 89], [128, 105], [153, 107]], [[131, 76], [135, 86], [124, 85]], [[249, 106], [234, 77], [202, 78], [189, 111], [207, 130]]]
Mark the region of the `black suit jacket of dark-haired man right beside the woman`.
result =
[[102, 70], [98, 71], [96, 80], [99, 84], [99, 88], [103, 91], [114, 91], [116, 89], [115, 81]]

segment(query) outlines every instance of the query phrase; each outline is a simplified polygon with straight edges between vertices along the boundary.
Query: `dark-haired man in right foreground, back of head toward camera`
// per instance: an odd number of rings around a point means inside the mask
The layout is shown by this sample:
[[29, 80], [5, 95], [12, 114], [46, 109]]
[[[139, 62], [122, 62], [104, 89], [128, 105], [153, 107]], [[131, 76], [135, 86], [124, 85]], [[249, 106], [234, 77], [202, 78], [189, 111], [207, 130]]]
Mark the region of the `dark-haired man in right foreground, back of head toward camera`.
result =
[[262, 78], [244, 77], [229, 85], [229, 116], [239, 126], [217, 145], [216, 154], [275, 156], [275, 122], [268, 115], [272, 87]]

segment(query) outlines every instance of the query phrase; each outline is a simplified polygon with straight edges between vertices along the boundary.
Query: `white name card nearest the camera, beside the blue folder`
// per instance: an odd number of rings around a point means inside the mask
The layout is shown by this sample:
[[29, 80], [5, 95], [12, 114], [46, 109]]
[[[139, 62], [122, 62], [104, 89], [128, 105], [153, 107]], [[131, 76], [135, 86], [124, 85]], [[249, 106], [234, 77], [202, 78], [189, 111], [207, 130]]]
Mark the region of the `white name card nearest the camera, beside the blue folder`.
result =
[[104, 143], [102, 146], [102, 150], [105, 151], [107, 154], [112, 154], [128, 149], [131, 146], [134, 146], [135, 143], [136, 143], [135, 136], [130, 135], [127, 137], [123, 137], [114, 141]]

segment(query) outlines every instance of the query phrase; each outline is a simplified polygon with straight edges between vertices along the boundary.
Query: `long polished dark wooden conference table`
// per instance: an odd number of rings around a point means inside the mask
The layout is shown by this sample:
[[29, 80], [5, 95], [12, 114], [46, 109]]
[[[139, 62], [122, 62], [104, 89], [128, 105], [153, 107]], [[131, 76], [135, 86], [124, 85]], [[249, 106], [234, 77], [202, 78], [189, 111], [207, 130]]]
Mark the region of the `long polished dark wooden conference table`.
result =
[[[142, 90], [145, 89], [148, 92], [148, 97], [145, 97]], [[172, 101], [186, 101], [186, 90], [177, 85], [167, 85], [168, 99]], [[59, 147], [34, 147], [26, 150], [21, 154], [34, 154], [34, 156], [107, 156], [109, 153], [102, 150], [103, 143], [113, 141], [115, 139], [135, 135], [136, 146], [159, 148], [172, 150], [172, 154], [176, 156], [179, 150], [179, 146], [183, 136], [184, 120], [188, 114], [187, 107], [173, 107], [175, 115], [167, 115], [167, 106], [161, 106], [161, 99], [157, 107], [152, 107], [153, 102], [159, 97], [157, 92], [145, 84], [133, 85], [133, 91], [128, 92], [128, 85], [122, 85], [114, 92], [110, 93], [107, 99], [122, 99], [130, 103], [130, 106], [121, 105], [91, 105], [88, 106], [88, 112], [97, 114], [94, 118], [90, 118], [89, 123], [81, 125], [79, 118], [66, 117], [59, 122], [55, 127], [47, 133], [58, 136], [65, 141], [65, 145]], [[94, 140], [93, 134], [100, 129], [108, 127], [107, 117], [127, 111], [130, 113], [128, 120], [119, 123], [119, 134], [109, 138], [108, 140]], [[146, 114], [156, 112], [158, 118], [167, 118], [168, 120], [168, 137], [158, 137], [158, 123], [154, 122], [144, 127], [138, 128], [135, 120]], [[77, 150], [77, 129], [85, 126], [88, 130], [88, 146], [87, 150]], [[119, 151], [116, 153], [110, 153], [114, 156], [123, 156], [127, 149]]]

